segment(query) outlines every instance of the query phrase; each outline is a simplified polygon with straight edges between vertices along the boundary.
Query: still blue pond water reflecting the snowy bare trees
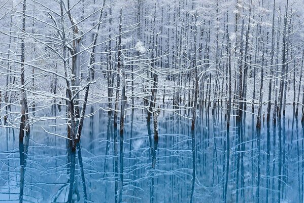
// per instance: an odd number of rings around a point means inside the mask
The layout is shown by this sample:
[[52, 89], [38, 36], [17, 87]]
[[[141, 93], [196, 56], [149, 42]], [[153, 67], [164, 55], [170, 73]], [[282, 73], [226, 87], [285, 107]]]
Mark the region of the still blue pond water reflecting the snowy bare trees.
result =
[[[18, 202], [20, 196], [23, 202], [115, 202], [120, 194], [122, 202], [223, 202], [227, 166], [224, 109], [197, 112], [195, 142], [191, 120], [185, 118], [191, 117], [191, 111], [161, 111], [158, 142], [153, 136], [153, 119], [147, 124], [145, 111], [126, 111], [123, 174], [119, 173], [119, 129], [118, 154], [114, 155], [113, 117], [109, 119], [108, 112], [96, 107], [87, 111], [95, 114], [85, 120], [76, 152], [67, 149], [66, 139], [46, 132], [66, 136], [66, 125], [60, 119], [33, 124], [28, 146], [19, 144], [19, 129], [0, 128], [0, 202]], [[50, 109], [45, 114], [54, 113]], [[56, 114], [64, 116], [64, 112]], [[300, 202], [304, 169], [301, 115], [297, 119], [289, 106], [275, 127], [272, 119], [268, 126], [265, 119], [260, 155], [256, 116], [252, 120], [251, 113], [244, 114], [238, 130], [235, 112], [231, 115], [227, 202], [256, 202], [258, 185], [260, 202], [266, 202], [267, 196], [268, 202], [277, 202], [279, 196], [281, 202]]]

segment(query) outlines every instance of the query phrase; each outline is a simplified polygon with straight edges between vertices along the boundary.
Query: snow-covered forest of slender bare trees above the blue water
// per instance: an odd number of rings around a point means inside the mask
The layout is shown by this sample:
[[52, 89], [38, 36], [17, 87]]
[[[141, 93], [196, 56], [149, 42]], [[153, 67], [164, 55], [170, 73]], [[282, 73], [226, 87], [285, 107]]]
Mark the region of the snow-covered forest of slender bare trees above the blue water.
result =
[[262, 101], [267, 113], [280, 113], [285, 104], [303, 103], [300, 1], [1, 5], [2, 120], [23, 93], [27, 108], [65, 103], [68, 83], [80, 104], [90, 86], [88, 105], [113, 110], [122, 71], [125, 100], [136, 108], [149, 108], [153, 89], [156, 103], [171, 100], [171, 111], [192, 108], [195, 100], [214, 107], [227, 103], [230, 86], [233, 108]]

